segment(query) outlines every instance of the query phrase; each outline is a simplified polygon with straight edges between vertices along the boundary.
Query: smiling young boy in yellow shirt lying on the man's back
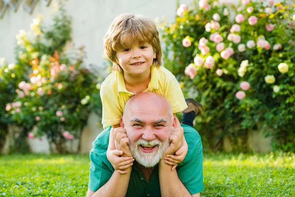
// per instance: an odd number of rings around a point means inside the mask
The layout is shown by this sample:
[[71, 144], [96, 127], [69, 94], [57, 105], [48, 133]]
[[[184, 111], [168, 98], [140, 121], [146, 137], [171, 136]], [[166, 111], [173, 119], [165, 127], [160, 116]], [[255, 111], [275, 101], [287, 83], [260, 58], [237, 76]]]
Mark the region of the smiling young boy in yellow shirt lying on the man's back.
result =
[[[115, 67], [100, 89], [102, 124], [104, 128], [112, 126], [107, 158], [115, 170], [126, 173], [124, 169], [131, 166], [134, 159], [119, 157], [123, 153], [116, 151], [114, 128], [119, 127], [125, 103], [132, 95], [147, 91], [163, 95], [170, 101], [174, 115], [186, 110], [190, 126], [200, 106], [187, 100], [188, 108], [175, 76], [161, 66], [159, 33], [150, 19], [128, 13], [118, 15], [104, 37], [104, 48]], [[176, 155], [168, 155], [165, 162], [174, 165], [174, 169], [183, 161], [186, 152], [184, 139]]]

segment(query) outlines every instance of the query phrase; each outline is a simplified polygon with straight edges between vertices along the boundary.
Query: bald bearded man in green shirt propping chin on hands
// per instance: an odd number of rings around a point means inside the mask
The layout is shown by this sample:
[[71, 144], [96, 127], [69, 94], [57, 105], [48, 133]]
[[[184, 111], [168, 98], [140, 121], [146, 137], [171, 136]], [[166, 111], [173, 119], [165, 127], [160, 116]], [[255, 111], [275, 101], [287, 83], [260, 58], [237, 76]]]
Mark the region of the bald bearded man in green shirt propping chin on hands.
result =
[[[93, 142], [87, 197], [200, 197], [204, 189], [200, 135], [192, 127], [177, 125], [166, 98], [145, 92], [127, 101], [115, 130], [122, 157], [135, 159], [126, 174], [114, 170], [107, 159], [110, 131], [102, 131]], [[178, 150], [183, 132], [188, 152], [177, 170], [171, 170], [164, 158]]]

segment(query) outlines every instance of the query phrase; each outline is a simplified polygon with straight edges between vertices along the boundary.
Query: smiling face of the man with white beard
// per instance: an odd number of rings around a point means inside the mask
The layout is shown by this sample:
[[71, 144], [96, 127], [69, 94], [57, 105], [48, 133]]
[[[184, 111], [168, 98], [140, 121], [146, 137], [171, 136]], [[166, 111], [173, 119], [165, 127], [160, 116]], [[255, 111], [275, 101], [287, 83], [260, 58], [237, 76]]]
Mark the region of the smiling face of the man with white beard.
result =
[[130, 139], [130, 151], [134, 159], [145, 167], [158, 164], [167, 147], [173, 115], [165, 107], [130, 107], [124, 116], [124, 128]]

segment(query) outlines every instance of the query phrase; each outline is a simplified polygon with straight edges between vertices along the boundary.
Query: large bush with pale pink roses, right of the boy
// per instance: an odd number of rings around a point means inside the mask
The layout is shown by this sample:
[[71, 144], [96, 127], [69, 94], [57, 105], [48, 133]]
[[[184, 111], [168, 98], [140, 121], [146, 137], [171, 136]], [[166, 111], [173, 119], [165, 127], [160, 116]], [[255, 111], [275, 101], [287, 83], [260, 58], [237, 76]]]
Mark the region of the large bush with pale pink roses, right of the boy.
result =
[[[204, 105], [196, 119], [204, 142], [218, 148], [224, 134], [235, 138], [263, 123], [275, 130], [276, 148], [295, 150], [295, 5], [273, 0], [198, 5], [180, 5], [175, 23], [163, 21], [159, 28], [165, 66], [185, 96]], [[230, 130], [236, 125], [237, 131]]]

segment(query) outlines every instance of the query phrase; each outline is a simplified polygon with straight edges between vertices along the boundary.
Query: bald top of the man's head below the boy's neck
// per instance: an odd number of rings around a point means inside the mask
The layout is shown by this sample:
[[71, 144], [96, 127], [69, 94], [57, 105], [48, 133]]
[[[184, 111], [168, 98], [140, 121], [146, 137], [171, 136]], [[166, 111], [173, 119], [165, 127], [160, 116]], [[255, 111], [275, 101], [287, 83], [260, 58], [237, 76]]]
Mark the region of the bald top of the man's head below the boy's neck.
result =
[[130, 113], [153, 113], [153, 111], [154, 113], [161, 111], [173, 120], [173, 113], [169, 100], [153, 92], [139, 93], [127, 100], [124, 108], [123, 120], [125, 122], [127, 115], [131, 117], [132, 114]]

